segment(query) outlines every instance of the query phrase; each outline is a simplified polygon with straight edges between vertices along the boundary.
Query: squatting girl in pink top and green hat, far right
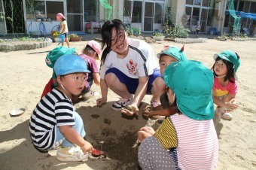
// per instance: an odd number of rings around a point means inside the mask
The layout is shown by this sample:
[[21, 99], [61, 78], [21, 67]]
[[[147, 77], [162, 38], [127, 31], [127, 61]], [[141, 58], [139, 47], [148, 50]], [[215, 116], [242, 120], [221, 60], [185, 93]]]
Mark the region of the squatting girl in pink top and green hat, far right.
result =
[[232, 120], [230, 111], [238, 108], [235, 104], [237, 93], [236, 71], [240, 65], [240, 59], [237, 53], [230, 50], [224, 50], [222, 53], [213, 56], [215, 64], [212, 70], [215, 76], [212, 89], [212, 98], [217, 108], [215, 114], [225, 120]]

